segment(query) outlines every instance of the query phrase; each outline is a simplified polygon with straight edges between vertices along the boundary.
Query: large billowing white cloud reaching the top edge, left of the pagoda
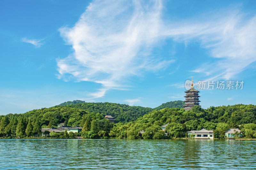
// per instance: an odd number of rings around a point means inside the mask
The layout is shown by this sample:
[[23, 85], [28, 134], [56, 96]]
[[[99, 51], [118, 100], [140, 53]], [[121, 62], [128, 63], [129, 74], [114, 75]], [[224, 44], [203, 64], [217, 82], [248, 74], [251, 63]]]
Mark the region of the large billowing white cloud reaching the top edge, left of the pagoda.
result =
[[[95, 1], [74, 27], [60, 28], [74, 53], [57, 59], [59, 78], [102, 84], [92, 93], [102, 97], [108, 89], [127, 86], [127, 79], [167, 68], [174, 60], [151, 55], [161, 25], [161, 1]], [[132, 12], [129, 12], [132, 11]]]

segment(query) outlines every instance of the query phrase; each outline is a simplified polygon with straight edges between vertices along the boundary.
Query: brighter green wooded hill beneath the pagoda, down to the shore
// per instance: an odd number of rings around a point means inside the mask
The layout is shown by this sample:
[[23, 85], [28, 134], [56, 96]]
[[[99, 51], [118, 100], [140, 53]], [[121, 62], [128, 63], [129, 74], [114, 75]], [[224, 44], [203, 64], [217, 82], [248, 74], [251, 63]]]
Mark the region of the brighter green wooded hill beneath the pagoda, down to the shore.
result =
[[[242, 129], [244, 137], [256, 137], [256, 106], [233, 105], [202, 109], [194, 106], [185, 111], [180, 108], [153, 110], [133, 123], [115, 124], [113, 134], [120, 138], [164, 138], [160, 126], [169, 123], [166, 132], [170, 137], [185, 137], [190, 130], [214, 130], [214, 137], [224, 138], [229, 128]], [[140, 133], [144, 131], [144, 133]]]

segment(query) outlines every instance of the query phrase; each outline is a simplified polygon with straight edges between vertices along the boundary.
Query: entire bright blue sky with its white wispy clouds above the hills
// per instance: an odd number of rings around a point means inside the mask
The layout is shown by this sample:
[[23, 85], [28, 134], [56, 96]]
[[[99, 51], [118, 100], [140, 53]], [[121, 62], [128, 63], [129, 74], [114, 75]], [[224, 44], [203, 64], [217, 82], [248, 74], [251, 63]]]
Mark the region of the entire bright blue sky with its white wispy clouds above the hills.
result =
[[[0, 114], [65, 101], [157, 107], [185, 81], [200, 105], [256, 104], [255, 1], [21, 1], [0, 6]], [[197, 86], [196, 86], [197, 87]]]

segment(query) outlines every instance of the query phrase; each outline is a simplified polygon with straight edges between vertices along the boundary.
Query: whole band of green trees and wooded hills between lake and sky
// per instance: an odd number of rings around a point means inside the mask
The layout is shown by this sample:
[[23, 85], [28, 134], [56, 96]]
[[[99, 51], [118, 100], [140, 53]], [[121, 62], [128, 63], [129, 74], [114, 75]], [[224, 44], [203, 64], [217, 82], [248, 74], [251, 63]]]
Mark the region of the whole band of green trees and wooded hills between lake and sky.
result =
[[[78, 100], [75, 100], [78, 101]], [[66, 104], [65, 104], [66, 103]], [[35, 109], [24, 114], [0, 116], [0, 138], [40, 137], [41, 128], [68, 126], [83, 127], [80, 133], [49, 133], [51, 138], [120, 138], [164, 139], [185, 138], [190, 130], [213, 130], [214, 138], [225, 138], [225, 131], [239, 128], [243, 138], [256, 138], [256, 106], [199, 106], [185, 111], [182, 101], [167, 102], [156, 108], [128, 106], [116, 103], [68, 103]], [[169, 103], [169, 104], [168, 104]], [[166, 108], [161, 108], [166, 107]], [[172, 107], [172, 108], [169, 108]], [[104, 118], [115, 117], [115, 123]], [[160, 127], [169, 123], [165, 131]], [[240, 125], [240, 126], [239, 126]], [[168, 136], [164, 133], [167, 133]]]

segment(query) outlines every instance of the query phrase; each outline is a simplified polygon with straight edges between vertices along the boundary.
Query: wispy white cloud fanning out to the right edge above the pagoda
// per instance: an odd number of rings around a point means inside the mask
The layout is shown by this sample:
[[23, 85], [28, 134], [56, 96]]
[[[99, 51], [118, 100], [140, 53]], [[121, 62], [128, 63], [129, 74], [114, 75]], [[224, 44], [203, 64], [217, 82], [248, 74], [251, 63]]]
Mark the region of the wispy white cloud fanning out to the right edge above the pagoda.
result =
[[198, 42], [209, 49], [213, 63], [203, 63], [194, 72], [230, 79], [256, 61], [256, 16], [238, 8], [212, 11], [184, 19], [164, 28], [164, 35], [177, 42]]

